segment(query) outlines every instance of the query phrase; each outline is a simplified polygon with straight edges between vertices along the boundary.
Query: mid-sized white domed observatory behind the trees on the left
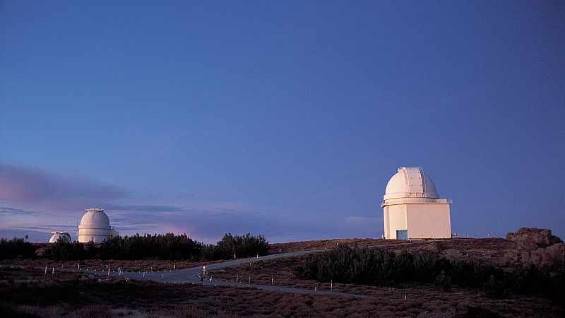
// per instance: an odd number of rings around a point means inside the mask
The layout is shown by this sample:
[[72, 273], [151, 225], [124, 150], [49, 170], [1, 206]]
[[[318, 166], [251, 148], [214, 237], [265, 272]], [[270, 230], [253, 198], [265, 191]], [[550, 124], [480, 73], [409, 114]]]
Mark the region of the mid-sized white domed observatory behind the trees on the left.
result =
[[103, 240], [118, 236], [119, 232], [110, 226], [110, 219], [102, 208], [87, 208], [86, 213], [78, 225], [78, 242], [90, 241], [101, 243]]

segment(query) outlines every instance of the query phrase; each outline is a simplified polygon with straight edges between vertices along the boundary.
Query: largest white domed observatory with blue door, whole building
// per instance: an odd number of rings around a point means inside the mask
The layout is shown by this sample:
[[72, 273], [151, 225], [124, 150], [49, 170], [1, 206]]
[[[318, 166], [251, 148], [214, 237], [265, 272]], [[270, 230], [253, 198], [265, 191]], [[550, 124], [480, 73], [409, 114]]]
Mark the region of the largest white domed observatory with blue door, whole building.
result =
[[440, 199], [421, 167], [400, 167], [383, 196], [384, 237], [410, 240], [451, 237], [451, 200]]

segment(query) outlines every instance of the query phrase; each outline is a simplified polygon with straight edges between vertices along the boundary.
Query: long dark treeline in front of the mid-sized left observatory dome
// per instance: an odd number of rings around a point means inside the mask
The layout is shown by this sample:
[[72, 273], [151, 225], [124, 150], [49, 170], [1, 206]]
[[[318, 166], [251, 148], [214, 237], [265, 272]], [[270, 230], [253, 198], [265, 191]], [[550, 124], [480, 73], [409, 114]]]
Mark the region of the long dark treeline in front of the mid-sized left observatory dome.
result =
[[145, 259], [213, 261], [237, 257], [266, 255], [268, 241], [263, 235], [243, 236], [227, 233], [216, 245], [206, 245], [185, 234], [116, 236], [95, 245], [57, 242], [45, 249], [44, 257], [57, 261], [81, 259]]

